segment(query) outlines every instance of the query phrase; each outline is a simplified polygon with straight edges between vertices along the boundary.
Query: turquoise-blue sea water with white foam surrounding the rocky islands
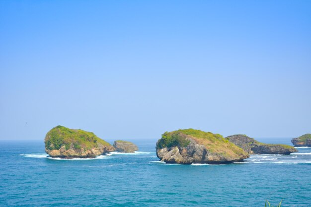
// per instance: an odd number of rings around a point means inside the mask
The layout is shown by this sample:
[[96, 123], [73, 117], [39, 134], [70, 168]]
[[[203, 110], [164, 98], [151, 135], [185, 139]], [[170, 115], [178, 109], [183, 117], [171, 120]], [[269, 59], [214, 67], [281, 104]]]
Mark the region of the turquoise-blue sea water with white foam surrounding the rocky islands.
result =
[[155, 142], [134, 142], [135, 154], [61, 160], [47, 157], [43, 141], [2, 141], [0, 206], [263, 207], [266, 199], [283, 199], [283, 207], [311, 207], [311, 148], [243, 163], [178, 165], [159, 162]]

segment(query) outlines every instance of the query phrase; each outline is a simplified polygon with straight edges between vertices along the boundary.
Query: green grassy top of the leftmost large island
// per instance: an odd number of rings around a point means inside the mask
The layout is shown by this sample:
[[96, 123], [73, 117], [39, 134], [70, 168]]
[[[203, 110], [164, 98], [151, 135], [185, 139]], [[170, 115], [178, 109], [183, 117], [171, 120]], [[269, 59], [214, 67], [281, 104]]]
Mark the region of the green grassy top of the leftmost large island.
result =
[[110, 146], [109, 143], [98, 138], [93, 132], [69, 129], [64, 126], [54, 127], [45, 137], [45, 148], [48, 150], [59, 150], [64, 145], [68, 150], [72, 144], [75, 149], [92, 149], [97, 147], [97, 143]]

